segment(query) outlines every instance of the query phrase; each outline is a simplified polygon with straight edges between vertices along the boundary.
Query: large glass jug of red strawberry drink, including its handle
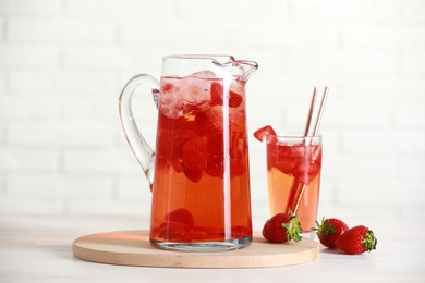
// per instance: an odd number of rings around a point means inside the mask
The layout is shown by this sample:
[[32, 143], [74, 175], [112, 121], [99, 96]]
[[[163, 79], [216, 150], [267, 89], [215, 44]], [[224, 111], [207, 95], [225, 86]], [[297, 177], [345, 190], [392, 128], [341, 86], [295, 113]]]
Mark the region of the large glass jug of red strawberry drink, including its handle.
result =
[[[168, 56], [160, 82], [136, 75], [119, 110], [153, 192], [150, 243], [216, 251], [252, 241], [245, 84], [256, 62], [231, 56]], [[132, 95], [148, 87], [158, 108], [156, 150], [138, 131]]]

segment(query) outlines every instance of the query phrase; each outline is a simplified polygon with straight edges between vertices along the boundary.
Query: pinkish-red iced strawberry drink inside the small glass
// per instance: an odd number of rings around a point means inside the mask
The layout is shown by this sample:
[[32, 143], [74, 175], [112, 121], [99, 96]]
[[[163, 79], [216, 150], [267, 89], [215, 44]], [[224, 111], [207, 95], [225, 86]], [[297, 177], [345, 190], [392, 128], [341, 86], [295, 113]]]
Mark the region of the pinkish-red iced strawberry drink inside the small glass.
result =
[[[275, 140], [274, 140], [275, 139]], [[321, 168], [321, 146], [267, 144], [270, 213], [295, 211], [304, 232], [316, 224]]]

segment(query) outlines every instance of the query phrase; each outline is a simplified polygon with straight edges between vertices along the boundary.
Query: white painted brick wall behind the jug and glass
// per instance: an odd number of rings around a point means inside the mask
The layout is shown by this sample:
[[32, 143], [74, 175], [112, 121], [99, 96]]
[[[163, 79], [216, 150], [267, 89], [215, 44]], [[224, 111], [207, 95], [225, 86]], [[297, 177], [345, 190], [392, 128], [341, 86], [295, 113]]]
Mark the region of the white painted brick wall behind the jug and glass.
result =
[[[251, 133], [302, 130], [329, 86], [320, 213], [425, 216], [423, 0], [0, 0], [0, 213], [148, 214], [117, 100], [169, 53], [256, 60]], [[135, 104], [153, 142], [154, 106]], [[266, 218], [265, 145], [250, 143]]]

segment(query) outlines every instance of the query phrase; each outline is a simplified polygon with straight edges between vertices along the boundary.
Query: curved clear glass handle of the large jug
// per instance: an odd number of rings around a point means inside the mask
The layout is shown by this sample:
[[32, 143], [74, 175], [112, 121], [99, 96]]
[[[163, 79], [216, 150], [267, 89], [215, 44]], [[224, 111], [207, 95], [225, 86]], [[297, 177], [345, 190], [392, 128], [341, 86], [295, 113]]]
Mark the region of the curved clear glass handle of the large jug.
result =
[[134, 91], [141, 86], [150, 87], [154, 101], [158, 107], [157, 96], [159, 95], [159, 82], [147, 74], [139, 74], [132, 77], [124, 86], [119, 98], [119, 113], [122, 128], [124, 130], [126, 142], [129, 143], [137, 162], [145, 173], [150, 190], [154, 183], [155, 151], [145, 140], [133, 116], [132, 97]]

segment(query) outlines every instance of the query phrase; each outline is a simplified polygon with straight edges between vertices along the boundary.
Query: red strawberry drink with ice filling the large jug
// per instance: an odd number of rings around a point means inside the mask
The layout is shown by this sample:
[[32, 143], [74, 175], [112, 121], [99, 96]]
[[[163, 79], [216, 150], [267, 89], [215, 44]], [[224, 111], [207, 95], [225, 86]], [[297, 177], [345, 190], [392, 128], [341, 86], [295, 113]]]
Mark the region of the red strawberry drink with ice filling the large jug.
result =
[[150, 241], [252, 236], [244, 87], [162, 77]]

